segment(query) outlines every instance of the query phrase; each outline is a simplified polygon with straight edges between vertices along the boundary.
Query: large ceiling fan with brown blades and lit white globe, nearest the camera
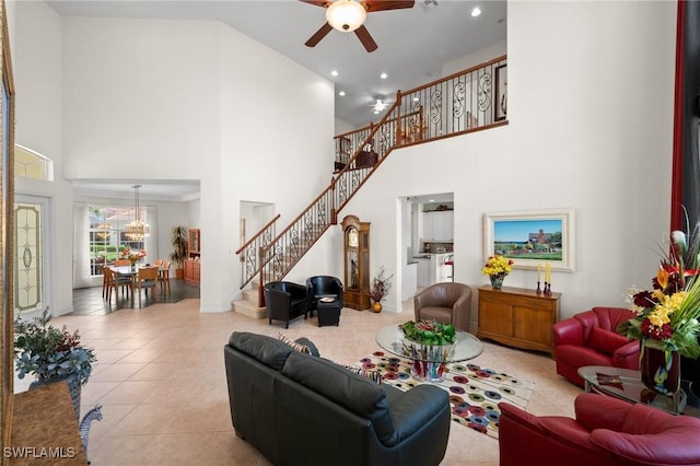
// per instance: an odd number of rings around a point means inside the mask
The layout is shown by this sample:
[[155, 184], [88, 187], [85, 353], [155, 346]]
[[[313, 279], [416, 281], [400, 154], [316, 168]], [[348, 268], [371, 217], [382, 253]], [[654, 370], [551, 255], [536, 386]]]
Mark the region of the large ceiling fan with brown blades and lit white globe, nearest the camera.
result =
[[330, 30], [351, 33], [358, 36], [368, 51], [377, 49], [377, 45], [364, 27], [368, 13], [384, 10], [401, 10], [413, 8], [415, 0], [300, 0], [326, 9], [326, 24], [305, 42], [307, 47], [315, 47]]

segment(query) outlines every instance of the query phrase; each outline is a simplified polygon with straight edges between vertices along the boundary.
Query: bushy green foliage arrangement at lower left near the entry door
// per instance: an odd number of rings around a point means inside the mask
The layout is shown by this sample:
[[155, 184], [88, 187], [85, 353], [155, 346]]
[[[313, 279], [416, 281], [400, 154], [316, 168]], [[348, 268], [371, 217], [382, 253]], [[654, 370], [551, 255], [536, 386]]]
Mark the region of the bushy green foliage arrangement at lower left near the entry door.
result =
[[80, 345], [78, 330], [69, 333], [48, 325], [48, 307], [33, 322], [14, 321], [14, 361], [18, 377], [35, 374], [39, 381], [73, 376], [84, 385], [96, 361], [94, 350]]

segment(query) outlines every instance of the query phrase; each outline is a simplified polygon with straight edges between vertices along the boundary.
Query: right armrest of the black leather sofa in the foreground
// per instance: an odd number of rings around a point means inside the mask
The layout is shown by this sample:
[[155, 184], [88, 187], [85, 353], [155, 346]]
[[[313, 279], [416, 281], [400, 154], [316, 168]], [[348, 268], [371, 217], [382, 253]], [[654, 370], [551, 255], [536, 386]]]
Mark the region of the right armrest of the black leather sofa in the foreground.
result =
[[422, 384], [389, 399], [394, 423], [393, 445], [398, 445], [421, 429], [431, 428], [441, 417], [446, 419], [450, 430], [450, 398], [442, 388]]

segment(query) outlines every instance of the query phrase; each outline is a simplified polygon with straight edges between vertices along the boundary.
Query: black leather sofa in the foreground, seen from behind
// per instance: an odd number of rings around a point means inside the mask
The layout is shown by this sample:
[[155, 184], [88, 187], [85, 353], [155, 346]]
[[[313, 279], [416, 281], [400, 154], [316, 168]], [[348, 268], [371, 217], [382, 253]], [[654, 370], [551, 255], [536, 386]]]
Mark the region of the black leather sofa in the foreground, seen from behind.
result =
[[224, 346], [236, 434], [275, 465], [438, 465], [450, 435], [447, 393], [400, 392], [262, 335]]

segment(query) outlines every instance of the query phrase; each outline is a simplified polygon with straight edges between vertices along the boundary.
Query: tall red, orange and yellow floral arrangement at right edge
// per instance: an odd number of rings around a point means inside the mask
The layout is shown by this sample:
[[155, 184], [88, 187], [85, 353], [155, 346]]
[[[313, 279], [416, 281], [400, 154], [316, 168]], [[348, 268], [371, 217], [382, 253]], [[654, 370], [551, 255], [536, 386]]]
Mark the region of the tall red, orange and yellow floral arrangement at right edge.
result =
[[[697, 231], [697, 229], [696, 229]], [[669, 253], [662, 258], [652, 290], [631, 290], [637, 316], [617, 330], [643, 341], [648, 348], [677, 351], [687, 358], [700, 357], [700, 280], [698, 279], [698, 235], [690, 247], [686, 234], [672, 233]]]

